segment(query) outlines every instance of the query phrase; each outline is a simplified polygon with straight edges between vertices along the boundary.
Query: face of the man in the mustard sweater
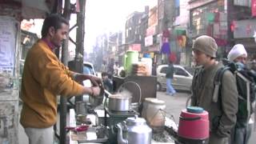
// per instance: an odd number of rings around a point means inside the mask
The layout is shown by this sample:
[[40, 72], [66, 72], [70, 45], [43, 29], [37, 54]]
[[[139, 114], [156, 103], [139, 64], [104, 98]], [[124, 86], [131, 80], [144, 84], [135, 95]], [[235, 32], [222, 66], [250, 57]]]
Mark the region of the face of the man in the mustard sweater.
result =
[[66, 34], [68, 30], [69, 30], [69, 26], [66, 25], [65, 23], [62, 23], [62, 27], [60, 29], [51, 31], [52, 33], [51, 42], [54, 44], [54, 46], [56, 47], [62, 46], [63, 40], [65, 40], [67, 37]]

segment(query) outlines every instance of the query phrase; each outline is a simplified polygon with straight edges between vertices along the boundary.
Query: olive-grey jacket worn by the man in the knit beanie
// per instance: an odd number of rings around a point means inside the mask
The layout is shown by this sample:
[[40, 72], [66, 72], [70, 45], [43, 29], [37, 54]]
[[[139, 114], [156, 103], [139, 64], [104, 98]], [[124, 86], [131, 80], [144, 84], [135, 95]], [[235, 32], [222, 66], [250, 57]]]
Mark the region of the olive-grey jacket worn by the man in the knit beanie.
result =
[[195, 71], [192, 81], [193, 94], [191, 99], [192, 106], [200, 106], [208, 111], [210, 137], [215, 137], [212, 138], [214, 142], [210, 143], [218, 144], [222, 143], [222, 138], [230, 136], [230, 130], [235, 125], [236, 113], [238, 111], [238, 91], [234, 75], [229, 70], [226, 70], [222, 77], [221, 97], [218, 98], [218, 102], [213, 102], [214, 76], [222, 66], [219, 63], [206, 69], [202, 67]]

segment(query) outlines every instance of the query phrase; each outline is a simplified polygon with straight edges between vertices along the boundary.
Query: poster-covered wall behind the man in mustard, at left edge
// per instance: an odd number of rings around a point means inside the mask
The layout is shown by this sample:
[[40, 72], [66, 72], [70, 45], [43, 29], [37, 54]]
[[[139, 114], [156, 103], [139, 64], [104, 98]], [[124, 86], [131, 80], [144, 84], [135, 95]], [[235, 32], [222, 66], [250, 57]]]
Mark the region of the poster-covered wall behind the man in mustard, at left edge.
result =
[[19, 22], [0, 16], [0, 143], [18, 143]]

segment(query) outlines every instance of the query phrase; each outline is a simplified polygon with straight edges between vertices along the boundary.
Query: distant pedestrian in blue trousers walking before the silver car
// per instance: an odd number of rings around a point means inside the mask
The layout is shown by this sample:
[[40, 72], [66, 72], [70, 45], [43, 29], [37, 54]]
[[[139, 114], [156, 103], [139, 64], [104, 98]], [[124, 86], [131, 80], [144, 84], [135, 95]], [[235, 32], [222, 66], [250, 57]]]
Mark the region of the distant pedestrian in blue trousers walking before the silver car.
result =
[[174, 78], [174, 64], [170, 61], [169, 66], [166, 71], [166, 94], [174, 96], [176, 93], [176, 90], [174, 90], [174, 87], [172, 86], [171, 82]]

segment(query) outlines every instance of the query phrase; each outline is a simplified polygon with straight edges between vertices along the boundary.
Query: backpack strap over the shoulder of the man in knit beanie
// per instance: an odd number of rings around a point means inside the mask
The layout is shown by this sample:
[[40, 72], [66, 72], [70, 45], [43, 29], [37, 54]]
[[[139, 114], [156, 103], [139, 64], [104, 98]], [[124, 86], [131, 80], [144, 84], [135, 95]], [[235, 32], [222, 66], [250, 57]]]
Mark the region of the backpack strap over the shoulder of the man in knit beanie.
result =
[[214, 76], [214, 95], [213, 102], [218, 102], [219, 90], [222, 85], [222, 76], [226, 70], [230, 70], [229, 66], [221, 67], [217, 70]]

